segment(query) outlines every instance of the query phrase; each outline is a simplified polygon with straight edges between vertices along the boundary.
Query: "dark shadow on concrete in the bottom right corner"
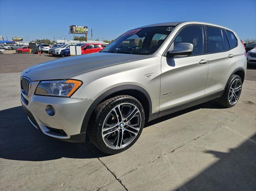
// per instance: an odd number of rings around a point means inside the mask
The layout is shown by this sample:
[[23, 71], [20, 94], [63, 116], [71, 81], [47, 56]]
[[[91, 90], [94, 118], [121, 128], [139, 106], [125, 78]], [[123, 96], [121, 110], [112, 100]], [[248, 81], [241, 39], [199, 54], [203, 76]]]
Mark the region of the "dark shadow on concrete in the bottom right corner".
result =
[[206, 150], [205, 153], [218, 160], [176, 191], [256, 190], [256, 134], [228, 152]]

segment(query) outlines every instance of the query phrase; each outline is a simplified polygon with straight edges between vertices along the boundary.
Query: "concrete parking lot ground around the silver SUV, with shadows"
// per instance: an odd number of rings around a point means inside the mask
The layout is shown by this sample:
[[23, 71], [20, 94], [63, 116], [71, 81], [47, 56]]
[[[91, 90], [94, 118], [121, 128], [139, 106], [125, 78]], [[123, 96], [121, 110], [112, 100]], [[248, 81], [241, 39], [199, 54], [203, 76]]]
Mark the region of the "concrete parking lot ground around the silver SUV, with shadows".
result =
[[158, 118], [129, 150], [106, 155], [45, 136], [26, 118], [20, 72], [54, 59], [0, 55], [0, 190], [256, 190], [256, 67], [236, 106], [210, 101]]

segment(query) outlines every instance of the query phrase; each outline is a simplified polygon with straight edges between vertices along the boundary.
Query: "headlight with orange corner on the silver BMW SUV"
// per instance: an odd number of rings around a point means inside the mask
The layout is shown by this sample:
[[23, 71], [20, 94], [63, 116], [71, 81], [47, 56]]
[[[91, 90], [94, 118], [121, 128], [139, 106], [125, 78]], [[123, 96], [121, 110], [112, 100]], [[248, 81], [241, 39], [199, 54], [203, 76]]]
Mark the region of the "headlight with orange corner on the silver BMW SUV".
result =
[[36, 88], [36, 95], [70, 97], [82, 85], [79, 80], [41, 81]]

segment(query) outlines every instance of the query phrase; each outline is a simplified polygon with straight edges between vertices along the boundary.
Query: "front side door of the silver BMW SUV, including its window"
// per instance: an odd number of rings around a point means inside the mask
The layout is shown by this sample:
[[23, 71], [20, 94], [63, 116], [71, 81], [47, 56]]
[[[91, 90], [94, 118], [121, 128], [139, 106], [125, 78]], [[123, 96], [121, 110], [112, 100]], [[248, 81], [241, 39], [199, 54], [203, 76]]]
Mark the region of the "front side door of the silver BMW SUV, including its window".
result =
[[[160, 116], [173, 112], [184, 104], [200, 102], [204, 98], [208, 75], [208, 57], [205, 53], [205, 33], [201, 25], [182, 28], [172, 40], [168, 51], [177, 43], [193, 44], [190, 56], [161, 59]], [[193, 101], [193, 102], [192, 102]]]

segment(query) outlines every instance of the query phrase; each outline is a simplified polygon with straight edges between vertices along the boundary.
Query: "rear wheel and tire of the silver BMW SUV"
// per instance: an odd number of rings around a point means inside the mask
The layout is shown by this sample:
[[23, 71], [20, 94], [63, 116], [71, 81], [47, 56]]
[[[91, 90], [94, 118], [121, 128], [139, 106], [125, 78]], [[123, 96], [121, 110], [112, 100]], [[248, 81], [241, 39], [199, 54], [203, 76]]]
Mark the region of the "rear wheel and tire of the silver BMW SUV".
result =
[[218, 104], [227, 108], [233, 107], [241, 95], [242, 79], [238, 75], [232, 75], [223, 95], [218, 99]]

